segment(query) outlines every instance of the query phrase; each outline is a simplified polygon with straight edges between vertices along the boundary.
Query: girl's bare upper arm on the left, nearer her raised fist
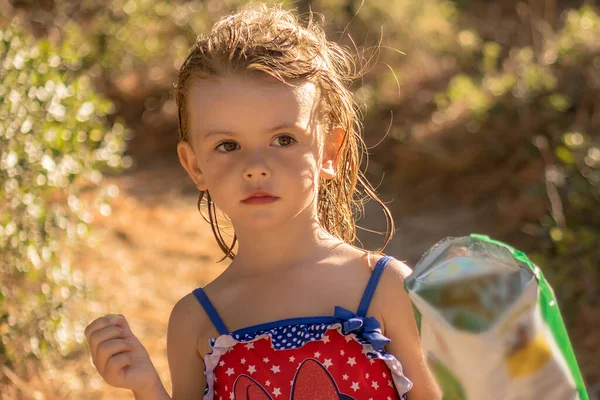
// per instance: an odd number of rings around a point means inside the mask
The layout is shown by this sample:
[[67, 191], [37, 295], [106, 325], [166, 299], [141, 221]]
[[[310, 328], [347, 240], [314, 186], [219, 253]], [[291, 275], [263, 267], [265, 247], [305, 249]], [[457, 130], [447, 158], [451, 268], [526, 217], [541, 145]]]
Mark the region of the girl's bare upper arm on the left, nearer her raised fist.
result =
[[[167, 334], [173, 400], [199, 400], [204, 396], [204, 360], [198, 344], [202, 340], [200, 335], [206, 333], [210, 326], [193, 294], [183, 297], [173, 307]], [[207, 343], [208, 339], [204, 342]]]

